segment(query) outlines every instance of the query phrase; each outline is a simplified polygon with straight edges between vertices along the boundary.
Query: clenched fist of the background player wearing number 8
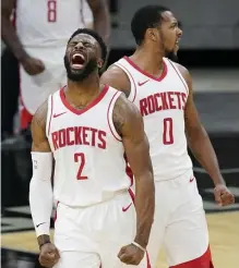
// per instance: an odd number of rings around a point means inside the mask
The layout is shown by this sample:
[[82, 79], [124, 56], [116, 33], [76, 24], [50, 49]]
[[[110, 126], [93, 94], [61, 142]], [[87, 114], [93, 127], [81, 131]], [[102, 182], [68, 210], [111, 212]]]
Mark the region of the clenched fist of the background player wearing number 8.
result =
[[26, 73], [29, 75], [36, 75], [43, 73], [43, 71], [45, 70], [45, 65], [41, 60], [32, 58], [29, 56], [21, 60], [21, 63], [24, 70], [26, 71]]

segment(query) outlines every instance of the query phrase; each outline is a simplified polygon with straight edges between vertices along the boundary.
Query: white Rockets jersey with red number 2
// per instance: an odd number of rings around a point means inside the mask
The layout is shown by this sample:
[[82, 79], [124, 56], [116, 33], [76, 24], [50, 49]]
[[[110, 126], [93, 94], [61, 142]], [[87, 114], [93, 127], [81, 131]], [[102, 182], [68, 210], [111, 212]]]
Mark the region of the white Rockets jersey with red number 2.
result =
[[63, 89], [48, 99], [47, 137], [56, 160], [55, 198], [84, 207], [128, 190], [124, 149], [112, 110], [120, 92], [106, 86], [85, 109], [65, 100]]

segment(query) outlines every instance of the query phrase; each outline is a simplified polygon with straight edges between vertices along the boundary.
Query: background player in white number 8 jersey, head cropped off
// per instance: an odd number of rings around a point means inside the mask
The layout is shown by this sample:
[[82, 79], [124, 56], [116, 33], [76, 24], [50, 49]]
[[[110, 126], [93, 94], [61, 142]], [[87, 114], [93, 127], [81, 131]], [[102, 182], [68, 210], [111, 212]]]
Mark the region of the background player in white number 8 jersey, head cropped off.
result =
[[2, 39], [21, 63], [21, 126], [26, 129], [39, 105], [67, 82], [62, 58], [69, 33], [93, 25], [93, 16], [94, 28], [108, 41], [109, 12], [105, 0], [2, 0], [1, 11]]

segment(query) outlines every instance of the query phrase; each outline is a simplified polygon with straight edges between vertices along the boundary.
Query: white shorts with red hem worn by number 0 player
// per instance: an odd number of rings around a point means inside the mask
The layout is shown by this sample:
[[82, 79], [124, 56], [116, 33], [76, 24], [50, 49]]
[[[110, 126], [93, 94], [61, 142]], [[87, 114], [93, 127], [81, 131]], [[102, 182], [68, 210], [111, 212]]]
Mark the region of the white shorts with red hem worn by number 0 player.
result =
[[[192, 170], [175, 180], [155, 182], [155, 219], [147, 247], [152, 268], [157, 267], [162, 246], [169, 267], [213, 267], [205, 212]], [[182, 266], [191, 260], [191, 266]]]

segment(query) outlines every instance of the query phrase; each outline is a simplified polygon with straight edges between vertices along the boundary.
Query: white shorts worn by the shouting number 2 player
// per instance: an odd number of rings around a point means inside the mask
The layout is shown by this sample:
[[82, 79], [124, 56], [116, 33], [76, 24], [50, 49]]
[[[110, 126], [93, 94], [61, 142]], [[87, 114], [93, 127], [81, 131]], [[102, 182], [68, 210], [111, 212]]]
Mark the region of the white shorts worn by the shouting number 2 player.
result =
[[[135, 208], [128, 192], [86, 208], [59, 203], [55, 244], [60, 260], [55, 268], [133, 268], [117, 256], [134, 240], [135, 229]], [[136, 267], [150, 267], [146, 254]]]

